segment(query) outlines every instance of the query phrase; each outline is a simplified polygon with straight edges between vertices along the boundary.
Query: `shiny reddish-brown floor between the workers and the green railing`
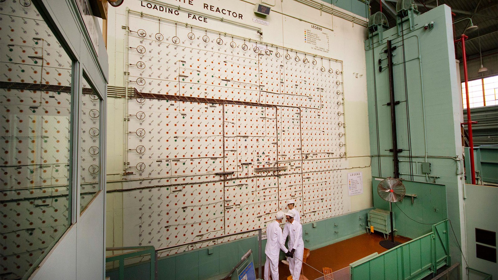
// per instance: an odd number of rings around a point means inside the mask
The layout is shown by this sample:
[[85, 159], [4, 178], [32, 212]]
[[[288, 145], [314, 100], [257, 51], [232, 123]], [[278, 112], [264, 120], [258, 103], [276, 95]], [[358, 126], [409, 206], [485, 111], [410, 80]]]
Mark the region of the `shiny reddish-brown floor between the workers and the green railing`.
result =
[[[379, 241], [383, 239], [381, 233], [362, 234], [311, 251], [306, 263], [319, 271], [322, 271], [322, 268], [330, 268], [335, 272], [345, 267], [349, 267], [349, 264], [375, 252], [380, 254], [387, 251], [387, 249], [378, 244]], [[405, 243], [408, 240], [395, 237], [395, 241]], [[287, 280], [287, 277], [290, 275], [289, 266], [280, 262], [278, 271], [279, 280]], [[322, 276], [321, 273], [315, 271], [306, 264], [303, 264], [303, 275], [308, 280], [314, 280]]]

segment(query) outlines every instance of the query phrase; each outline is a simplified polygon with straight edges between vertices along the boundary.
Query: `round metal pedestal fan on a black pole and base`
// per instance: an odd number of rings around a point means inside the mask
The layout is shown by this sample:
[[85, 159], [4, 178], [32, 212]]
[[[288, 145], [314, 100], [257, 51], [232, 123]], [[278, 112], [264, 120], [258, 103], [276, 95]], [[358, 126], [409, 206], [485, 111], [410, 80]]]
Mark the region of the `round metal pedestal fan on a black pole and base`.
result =
[[391, 218], [391, 240], [382, 240], [379, 245], [385, 249], [391, 249], [398, 246], [399, 242], [394, 241], [394, 224], [392, 222], [392, 203], [403, 199], [406, 188], [403, 183], [395, 178], [383, 179], [377, 186], [377, 193], [380, 198], [389, 202], [389, 214]]

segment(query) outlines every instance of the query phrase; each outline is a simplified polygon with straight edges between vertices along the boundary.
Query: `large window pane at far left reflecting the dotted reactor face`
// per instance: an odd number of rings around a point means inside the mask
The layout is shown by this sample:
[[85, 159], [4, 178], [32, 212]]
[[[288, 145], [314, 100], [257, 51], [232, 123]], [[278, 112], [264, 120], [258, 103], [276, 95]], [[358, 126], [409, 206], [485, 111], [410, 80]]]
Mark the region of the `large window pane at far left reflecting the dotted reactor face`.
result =
[[71, 58], [30, 0], [0, 1], [1, 279], [27, 278], [69, 228]]

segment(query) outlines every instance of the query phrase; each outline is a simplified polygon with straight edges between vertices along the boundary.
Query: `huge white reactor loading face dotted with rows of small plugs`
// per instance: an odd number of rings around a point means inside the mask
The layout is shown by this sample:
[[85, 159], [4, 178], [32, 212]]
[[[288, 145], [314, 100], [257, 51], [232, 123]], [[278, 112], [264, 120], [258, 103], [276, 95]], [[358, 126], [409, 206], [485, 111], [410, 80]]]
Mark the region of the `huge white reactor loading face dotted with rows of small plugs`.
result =
[[255, 30], [238, 36], [244, 26], [216, 23], [229, 34], [164, 12], [123, 13], [116, 36], [134, 88], [124, 113], [124, 246], [265, 228], [289, 199], [303, 223], [349, 210], [342, 61], [257, 41]]

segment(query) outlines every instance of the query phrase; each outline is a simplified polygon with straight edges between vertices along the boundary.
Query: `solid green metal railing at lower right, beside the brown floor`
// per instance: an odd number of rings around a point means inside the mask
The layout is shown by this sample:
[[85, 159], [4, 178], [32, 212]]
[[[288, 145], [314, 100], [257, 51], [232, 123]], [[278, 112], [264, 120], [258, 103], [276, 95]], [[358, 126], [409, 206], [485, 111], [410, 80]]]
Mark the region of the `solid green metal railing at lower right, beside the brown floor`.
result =
[[351, 280], [419, 280], [450, 265], [448, 220], [432, 226], [432, 232], [372, 258], [350, 264]]

